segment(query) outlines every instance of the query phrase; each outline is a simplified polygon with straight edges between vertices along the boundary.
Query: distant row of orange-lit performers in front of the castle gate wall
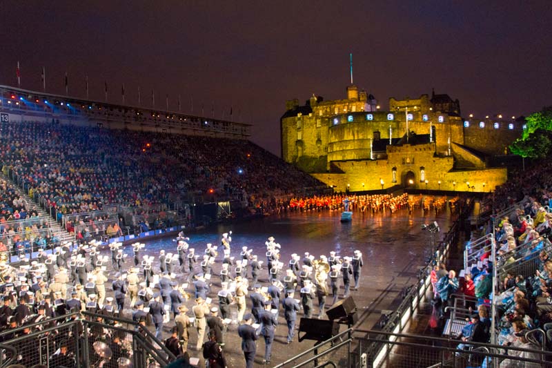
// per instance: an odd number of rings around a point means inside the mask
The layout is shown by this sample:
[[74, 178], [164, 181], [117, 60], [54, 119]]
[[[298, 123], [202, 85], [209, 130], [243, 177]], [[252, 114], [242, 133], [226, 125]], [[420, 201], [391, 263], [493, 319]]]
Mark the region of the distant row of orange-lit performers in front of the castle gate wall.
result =
[[401, 195], [393, 194], [333, 194], [333, 195], [314, 195], [313, 197], [291, 198], [288, 203], [289, 211], [343, 211], [345, 204], [348, 203], [348, 211], [366, 212], [391, 212], [395, 213], [400, 209], [408, 209], [408, 213], [413, 213], [416, 209], [423, 209], [424, 213], [435, 211], [435, 214], [446, 209], [449, 203], [451, 211], [454, 209], [458, 197], [447, 199], [446, 196], [435, 195]]

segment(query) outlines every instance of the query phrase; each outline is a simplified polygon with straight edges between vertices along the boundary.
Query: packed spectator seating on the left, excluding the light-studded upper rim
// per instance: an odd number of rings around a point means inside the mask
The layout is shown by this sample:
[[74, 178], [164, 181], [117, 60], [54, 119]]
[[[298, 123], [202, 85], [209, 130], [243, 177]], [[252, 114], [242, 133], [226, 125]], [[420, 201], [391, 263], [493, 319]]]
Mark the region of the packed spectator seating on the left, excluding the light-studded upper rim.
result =
[[4, 169], [59, 213], [167, 203], [189, 193], [255, 204], [320, 185], [242, 140], [26, 122], [1, 124], [0, 143]]

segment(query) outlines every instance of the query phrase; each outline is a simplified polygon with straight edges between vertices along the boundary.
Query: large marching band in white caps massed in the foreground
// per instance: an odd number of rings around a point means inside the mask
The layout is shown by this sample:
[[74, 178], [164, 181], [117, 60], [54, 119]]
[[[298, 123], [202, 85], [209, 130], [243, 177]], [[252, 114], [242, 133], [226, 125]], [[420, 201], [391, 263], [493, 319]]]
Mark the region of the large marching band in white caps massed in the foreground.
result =
[[[222, 235], [219, 246], [196, 249], [188, 241], [180, 233], [175, 248], [159, 255], [145, 254], [141, 243], [132, 244], [130, 253], [115, 242], [107, 253], [95, 242], [67, 242], [51, 254], [39, 251], [36, 259], [21, 262], [17, 269], [1, 261], [0, 325], [9, 330], [85, 310], [132, 318], [157, 338], [171, 333], [166, 347], [175, 356], [185, 354], [190, 336], [196, 335], [190, 346], [203, 349], [210, 367], [226, 366], [226, 334], [237, 330], [246, 367], [253, 367], [259, 337], [265, 342], [264, 362], [270, 362], [280, 316], [288, 327], [289, 344], [298, 317], [323, 318], [328, 297], [333, 304], [359, 287], [363, 260], [358, 250], [351, 256], [332, 251], [317, 259], [308, 252], [294, 253], [284, 262], [282, 246], [273, 237], [266, 241], [264, 255], [245, 245], [234, 251], [231, 232]], [[66, 338], [60, 336], [56, 344], [56, 349], [67, 345], [70, 356]], [[68, 367], [77, 364], [67, 360]]]

